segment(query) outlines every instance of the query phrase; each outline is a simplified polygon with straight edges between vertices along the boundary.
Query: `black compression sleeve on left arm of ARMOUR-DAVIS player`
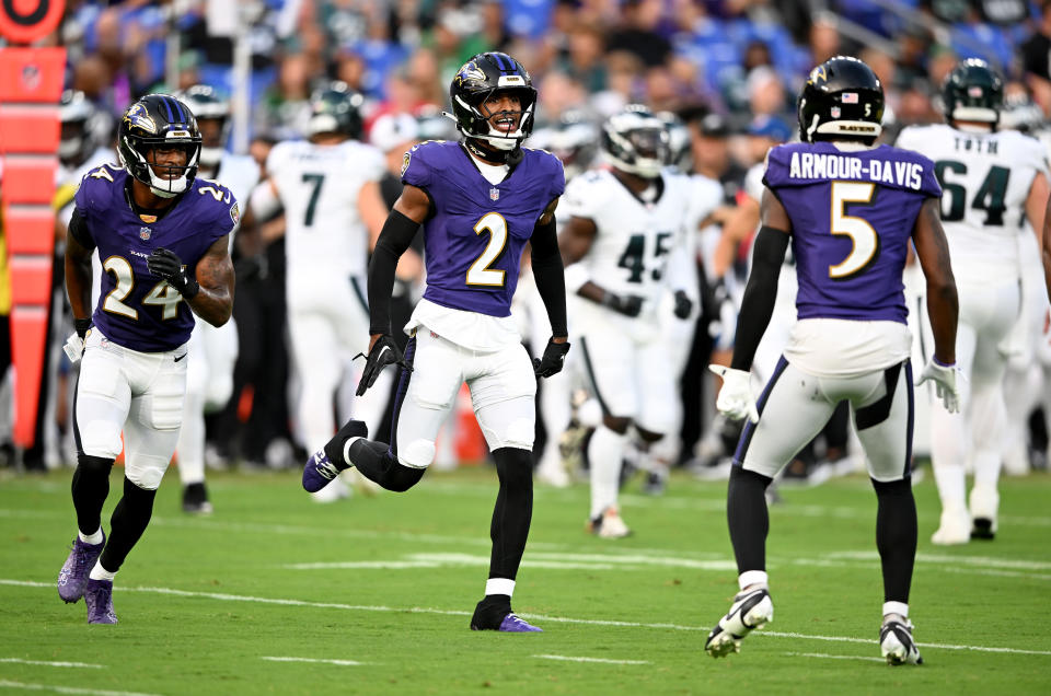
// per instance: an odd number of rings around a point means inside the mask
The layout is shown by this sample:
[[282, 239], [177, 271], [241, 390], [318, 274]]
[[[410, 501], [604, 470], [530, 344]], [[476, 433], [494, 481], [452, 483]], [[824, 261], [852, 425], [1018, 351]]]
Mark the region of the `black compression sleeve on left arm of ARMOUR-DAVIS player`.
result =
[[741, 312], [737, 316], [737, 335], [734, 344], [735, 370], [751, 370], [755, 349], [766, 332], [777, 299], [777, 278], [788, 248], [788, 234], [782, 230], [763, 227], [755, 235], [752, 248], [752, 271], [744, 286]]

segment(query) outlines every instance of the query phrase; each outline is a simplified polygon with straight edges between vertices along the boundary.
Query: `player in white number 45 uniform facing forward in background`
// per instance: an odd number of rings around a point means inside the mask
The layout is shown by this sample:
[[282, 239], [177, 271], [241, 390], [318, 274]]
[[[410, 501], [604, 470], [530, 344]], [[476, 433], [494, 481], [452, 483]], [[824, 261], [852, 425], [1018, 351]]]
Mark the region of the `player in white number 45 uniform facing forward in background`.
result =
[[[575, 333], [602, 424], [591, 436], [589, 530], [603, 537], [630, 531], [617, 510], [617, 486], [634, 425], [652, 443], [674, 425], [675, 375], [661, 340], [658, 308], [674, 293], [674, 314], [693, 302], [685, 269], [685, 228], [693, 186], [665, 173], [668, 129], [646, 107], [630, 105], [602, 127], [602, 153], [612, 169], [593, 170], [566, 189], [569, 216], [558, 243], [575, 304]], [[576, 265], [576, 267], [574, 267]]]

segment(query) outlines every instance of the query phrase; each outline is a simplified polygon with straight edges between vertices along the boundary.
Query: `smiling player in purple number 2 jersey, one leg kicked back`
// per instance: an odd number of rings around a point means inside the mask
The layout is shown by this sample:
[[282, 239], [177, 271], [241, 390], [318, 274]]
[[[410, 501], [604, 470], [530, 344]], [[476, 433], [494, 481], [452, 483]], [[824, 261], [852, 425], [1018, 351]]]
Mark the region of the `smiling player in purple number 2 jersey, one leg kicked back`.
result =
[[[409, 489], [430, 465], [438, 428], [466, 382], [500, 480], [489, 579], [471, 628], [534, 631], [511, 612], [511, 593], [532, 515], [536, 378], [558, 372], [569, 349], [554, 214], [565, 178], [554, 155], [521, 147], [536, 91], [517, 60], [474, 56], [453, 78], [450, 96], [463, 139], [428, 141], [405, 153], [405, 188], [369, 267], [371, 343], [358, 393], [385, 366], [402, 367], [391, 444], [366, 440], [365, 424], [351, 420], [310, 457], [303, 488], [320, 490], [357, 466], [389, 490]], [[391, 290], [397, 258], [420, 223], [427, 289], [405, 327], [411, 338], [403, 358], [391, 338]], [[543, 358], [532, 364], [510, 316], [527, 242], [552, 329]]]

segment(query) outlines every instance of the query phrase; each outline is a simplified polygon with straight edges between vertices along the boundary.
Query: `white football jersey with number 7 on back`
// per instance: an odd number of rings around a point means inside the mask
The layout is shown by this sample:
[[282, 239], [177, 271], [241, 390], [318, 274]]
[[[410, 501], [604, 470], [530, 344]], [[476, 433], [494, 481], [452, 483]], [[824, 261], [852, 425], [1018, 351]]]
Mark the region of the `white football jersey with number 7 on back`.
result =
[[358, 193], [379, 182], [383, 155], [356, 140], [314, 144], [279, 142], [266, 172], [285, 206], [285, 256], [289, 275], [314, 275], [319, 266], [363, 276], [369, 234], [358, 211]]

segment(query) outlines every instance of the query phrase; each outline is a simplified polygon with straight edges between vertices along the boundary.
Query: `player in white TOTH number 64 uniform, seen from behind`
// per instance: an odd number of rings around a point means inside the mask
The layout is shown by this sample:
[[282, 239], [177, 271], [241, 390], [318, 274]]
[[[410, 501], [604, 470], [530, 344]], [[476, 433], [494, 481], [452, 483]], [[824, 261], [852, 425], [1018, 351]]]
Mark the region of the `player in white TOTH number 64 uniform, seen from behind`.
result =
[[[935, 161], [942, 183], [942, 222], [960, 292], [956, 352], [966, 380], [961, 413], [935, 405], [931, 455], [942, 498], [935, 544], [965, 544], [996, 532], [996, 482], [1006, 411], [1004, 339], [1020, 310], [1017, 236], [1023, 216], [1042, 229], [1051, 189], [1047, 151], [1014, 130], [997, 130], [1003, 81], [978, 59], [960, 62], [943, 85], [945, 125], [904, 129], [898, 147]], [[928, 341], [929, 345], [929, 341]], [[966, 497], [966, 467], [974, 486]]]

